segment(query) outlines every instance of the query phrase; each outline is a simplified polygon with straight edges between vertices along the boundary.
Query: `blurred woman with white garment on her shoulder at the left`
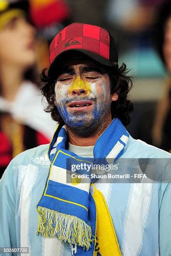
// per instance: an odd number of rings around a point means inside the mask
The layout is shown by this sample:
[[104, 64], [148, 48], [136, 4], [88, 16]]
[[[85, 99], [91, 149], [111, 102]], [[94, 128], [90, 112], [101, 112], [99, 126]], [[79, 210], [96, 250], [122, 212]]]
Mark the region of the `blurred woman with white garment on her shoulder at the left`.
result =
[[0, 1], [0, 176], [20, 152], [49, 143], [56, 123], [35, 81], [35, 28], [27, 1]]

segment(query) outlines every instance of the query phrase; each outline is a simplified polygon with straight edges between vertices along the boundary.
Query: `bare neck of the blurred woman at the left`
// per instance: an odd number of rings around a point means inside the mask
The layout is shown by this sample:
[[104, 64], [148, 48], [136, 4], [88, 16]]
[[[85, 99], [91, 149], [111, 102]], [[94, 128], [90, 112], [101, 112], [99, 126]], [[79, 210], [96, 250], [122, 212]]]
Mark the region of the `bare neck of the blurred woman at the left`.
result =
[[0, 86], [1, 95], [8, 101], [13, 101], [21, 83], [24, 80], [24, 69], [10, 66], [7, 64], [0, 65]]

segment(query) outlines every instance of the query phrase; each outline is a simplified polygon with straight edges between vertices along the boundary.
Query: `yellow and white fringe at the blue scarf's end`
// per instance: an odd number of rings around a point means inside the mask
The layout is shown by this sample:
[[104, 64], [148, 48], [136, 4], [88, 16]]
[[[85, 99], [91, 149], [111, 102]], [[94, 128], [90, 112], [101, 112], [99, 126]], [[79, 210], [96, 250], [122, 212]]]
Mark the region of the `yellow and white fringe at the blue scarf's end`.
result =
[[76, 244], [88, 250], [91, 247], [91, 227], [80, 218], [38, 206], [37, 235], [57, 237], [60, 241]]

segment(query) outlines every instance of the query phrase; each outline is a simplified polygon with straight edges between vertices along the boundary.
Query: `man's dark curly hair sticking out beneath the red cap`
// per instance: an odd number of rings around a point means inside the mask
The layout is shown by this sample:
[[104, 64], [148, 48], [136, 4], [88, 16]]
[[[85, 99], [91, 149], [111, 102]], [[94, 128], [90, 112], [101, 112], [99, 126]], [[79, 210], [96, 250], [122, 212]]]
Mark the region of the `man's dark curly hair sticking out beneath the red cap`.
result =
[[[48, 101], [48, 107], [45, 109], [46, 112], [51, 112], [52, 119], [58, 123], [63, 123], [63, 119], [58, 113], [56, 106], [54, 105], [55, 100], [55, 74], [52, 77], [48, 77], [46, 74], [47, 69], [43, 69], [40, 74], [40, 81], [43, 82], [44, 86], [41, 88], [43, 96], [46, 97]], [[128, 76], [129, 70], [126, 68], [126, 64], [122, 64], [119, 68], [108, 67], [107, 73], [111, 81], [111, 93], [118, 92], [118, 100], [112, 102], [111, 113], [112, 118], [117, 117], [121, 120], [123, 125], [128, 125], [130, 123], [130, 113], [133, 111], [133, 103], [127, 99], [128, 92], [132, 87], [132, 77]]]

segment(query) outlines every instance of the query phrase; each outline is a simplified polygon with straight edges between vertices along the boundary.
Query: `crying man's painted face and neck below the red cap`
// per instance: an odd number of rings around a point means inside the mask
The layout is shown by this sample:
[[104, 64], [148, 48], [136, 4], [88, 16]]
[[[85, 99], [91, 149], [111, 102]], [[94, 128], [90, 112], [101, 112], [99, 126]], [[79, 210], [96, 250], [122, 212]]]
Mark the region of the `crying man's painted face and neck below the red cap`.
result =
[[68, 127], [70, 143], [92, 146], [111, 123], [111, 102], [118, 93], [111, 93], [107, 69], [101, 64], [78, 52], [67, 57], [56, 80], [55, 105]]

